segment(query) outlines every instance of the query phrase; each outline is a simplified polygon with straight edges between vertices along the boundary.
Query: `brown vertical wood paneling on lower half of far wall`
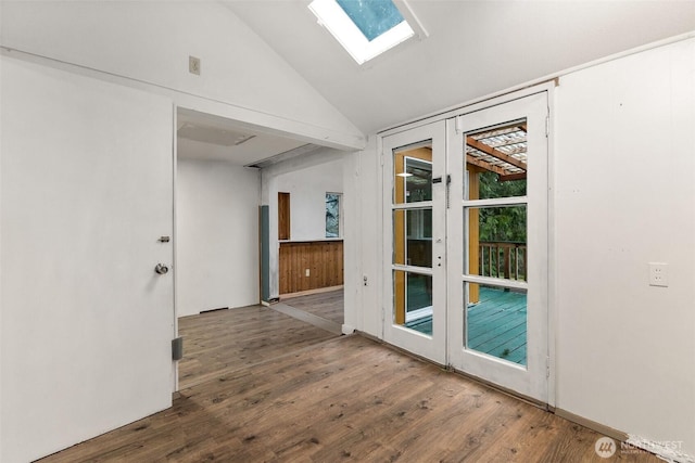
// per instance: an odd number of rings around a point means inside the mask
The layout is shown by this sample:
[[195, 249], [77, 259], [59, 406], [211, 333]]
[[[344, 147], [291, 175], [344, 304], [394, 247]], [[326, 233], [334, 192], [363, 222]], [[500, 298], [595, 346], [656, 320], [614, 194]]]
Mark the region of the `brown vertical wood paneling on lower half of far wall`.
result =
[[[308, 276], [306, 270], [308, 269]], [[343, 242], [280, 243], [280, 294], [343, 284]]]

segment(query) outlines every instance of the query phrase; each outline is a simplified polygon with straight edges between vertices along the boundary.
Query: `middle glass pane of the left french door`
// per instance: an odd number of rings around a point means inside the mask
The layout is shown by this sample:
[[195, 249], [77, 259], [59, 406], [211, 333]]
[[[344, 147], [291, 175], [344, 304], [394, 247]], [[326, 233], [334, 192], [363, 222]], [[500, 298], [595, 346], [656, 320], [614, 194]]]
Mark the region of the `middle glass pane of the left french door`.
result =
[[432, 267], [432, 209], [393, 211], [393, 263]]

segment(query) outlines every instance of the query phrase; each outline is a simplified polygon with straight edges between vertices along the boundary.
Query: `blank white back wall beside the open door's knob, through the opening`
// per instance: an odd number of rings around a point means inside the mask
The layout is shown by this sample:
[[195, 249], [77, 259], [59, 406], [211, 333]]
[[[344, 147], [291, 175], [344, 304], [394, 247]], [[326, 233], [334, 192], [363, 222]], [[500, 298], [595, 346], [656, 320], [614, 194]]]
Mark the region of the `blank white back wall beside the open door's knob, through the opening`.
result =
[[258, 171], [178, 154], [178, 316], [257, 304]]

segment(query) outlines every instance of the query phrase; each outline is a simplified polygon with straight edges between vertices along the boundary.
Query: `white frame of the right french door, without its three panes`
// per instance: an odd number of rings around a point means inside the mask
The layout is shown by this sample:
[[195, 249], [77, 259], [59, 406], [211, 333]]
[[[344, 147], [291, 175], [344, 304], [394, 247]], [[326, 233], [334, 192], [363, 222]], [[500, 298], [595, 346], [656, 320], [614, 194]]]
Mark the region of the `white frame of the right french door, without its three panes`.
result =
[[[447, 306], [450, 345], [448, 363], [484, 381], [497, 384], [511, 391], [547, 403], [548, 377], [548, 317], [547, 317], [547, 93], [533, 95], [492, 106], [475, 113], [446, 120], [447, 159], [452, 176], [451, 208], [448, 209], [448, 269]], [[526, 119], [529, 150], [527, 196], [496, 200], [465, 201], [463, 147], [466, 132], [494, 127], [514, 120]], [[466, 233], [464, 206], [526, 205], [528, 210], [527, 242], [528, 276], [526, 282], [493, 279], [490, 276], [464, 275], [466, 273]], [[464, 253], [460, 252], [463, 248]], [[496, 357], [465, 347], [466, 295], [463, 282], [503, 284], [506, 287], [528, 290], [527, 311], [527, 364], [514, 364]]]

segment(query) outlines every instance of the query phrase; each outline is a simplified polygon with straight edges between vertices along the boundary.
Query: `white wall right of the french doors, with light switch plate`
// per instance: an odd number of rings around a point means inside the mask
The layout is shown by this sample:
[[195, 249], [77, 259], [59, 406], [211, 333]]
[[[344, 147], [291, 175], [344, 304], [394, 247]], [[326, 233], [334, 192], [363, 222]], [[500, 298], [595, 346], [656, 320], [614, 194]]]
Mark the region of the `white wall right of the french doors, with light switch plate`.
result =
[[695, 40], [556, 94], [557, 407], [695, 455]]

